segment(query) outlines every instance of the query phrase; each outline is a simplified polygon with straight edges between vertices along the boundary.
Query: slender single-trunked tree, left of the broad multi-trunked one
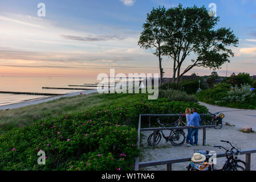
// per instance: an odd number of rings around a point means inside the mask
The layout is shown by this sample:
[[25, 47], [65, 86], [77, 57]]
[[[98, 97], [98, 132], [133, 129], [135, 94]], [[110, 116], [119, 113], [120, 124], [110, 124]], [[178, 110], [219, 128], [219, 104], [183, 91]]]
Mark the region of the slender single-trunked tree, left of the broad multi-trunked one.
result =
[[162, 45], [164, 44], [164, 20], [165, 20], [165, 7], [159, 7], [147, 14], [146, 23], [143, 24], [143, 32], [141, 32], [139, 46], [145, 49], [155, 49], [154, 54], [159, 59], [160, 69], [160, 85], [164, 71], [162, 69]]

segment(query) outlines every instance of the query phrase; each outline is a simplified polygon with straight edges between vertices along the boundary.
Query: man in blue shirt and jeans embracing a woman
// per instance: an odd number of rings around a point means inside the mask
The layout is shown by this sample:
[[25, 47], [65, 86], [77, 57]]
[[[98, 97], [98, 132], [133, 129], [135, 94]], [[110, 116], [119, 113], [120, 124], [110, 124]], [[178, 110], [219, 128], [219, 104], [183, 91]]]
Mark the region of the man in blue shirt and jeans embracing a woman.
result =
[[[196, 108], [193, 108], [192, 110], [192, 118], [190, 119], [189, 126], [191, 127], [197, 127], [200, 126], [199, 122], [201, 121], [200, 115], [197, 114]], [[190, 138], [190, 144], [189, 146], [197, 145], [198, 143], [198, 131], [199, 129], [191, 129], [189, 132], [189, 138]], [[194, 143], [193, 143], [193, 136], [194, 136]]]

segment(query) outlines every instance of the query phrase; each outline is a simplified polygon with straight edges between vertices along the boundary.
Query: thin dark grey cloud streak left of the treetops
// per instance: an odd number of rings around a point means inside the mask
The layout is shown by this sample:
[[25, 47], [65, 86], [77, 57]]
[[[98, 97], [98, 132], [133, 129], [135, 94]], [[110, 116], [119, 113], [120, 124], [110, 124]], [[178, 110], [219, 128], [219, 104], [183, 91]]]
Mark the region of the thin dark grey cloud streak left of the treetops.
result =
[[116, 35], [98, 35], [98, 36], [74, 36], [74, 35], [60, 35], [64, 39], [79, 40], [84, 42], [107, 41], [107, 40], [124, 40]]

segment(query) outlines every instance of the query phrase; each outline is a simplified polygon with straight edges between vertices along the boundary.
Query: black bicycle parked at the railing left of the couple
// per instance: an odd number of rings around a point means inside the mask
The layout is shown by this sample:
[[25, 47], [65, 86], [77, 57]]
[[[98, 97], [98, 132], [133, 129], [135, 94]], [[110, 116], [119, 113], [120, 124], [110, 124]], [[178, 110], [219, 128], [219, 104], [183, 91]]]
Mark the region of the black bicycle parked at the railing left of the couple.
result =
[[[162, 124], [160, 123], [160, 119], [157, 119], [157, 123], [159, 123], [160, 127], [169, 127], [169, 125]], [[166, 140], [166, 142], [170, 142], [172, 143], [173, 146], [182, 146], [182, 144], [184, 144], [185, 142], [185, 133], [183, 130], [178, 130], [178, 129], [174, 129], [174, 130], [170, 130], [170, 134], [169, 136], [165, 136], [165, 134], [162, 132], [162, 130], [157, 130], [156, 131], [156, 140], [155, 140], [155, 144], [159, 144], [161, 138], [164, 138]], [[154, 146], [154, 133], [150, 134], [148, 137], [148, 144], [149, 146]]]

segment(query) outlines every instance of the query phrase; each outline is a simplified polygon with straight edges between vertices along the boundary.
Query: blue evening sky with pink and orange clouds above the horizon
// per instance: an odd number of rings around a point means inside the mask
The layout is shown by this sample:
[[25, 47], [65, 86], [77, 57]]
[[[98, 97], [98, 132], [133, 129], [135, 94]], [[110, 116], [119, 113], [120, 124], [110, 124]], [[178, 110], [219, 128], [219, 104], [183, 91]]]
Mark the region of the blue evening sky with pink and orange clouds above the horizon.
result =
[[[38, 4], [46, 14], [38, 16]], [[153, 7], [205, 6], [215, 3], [218, 27], [231, 28], [239, 38], [230, 47], [235, 56], [217, 70], [221, 76], [256, 75], [256, 0], [0, 0], [0, 76], [95, 77], [99, 73], [159, 73], [153, 49], [137, 45]], [[190, 60], [182, 67], [186, 68]], [[172, 60], [163, 58], [165, 77]], [[188, 74], [210, 75], [208, 68]]]

